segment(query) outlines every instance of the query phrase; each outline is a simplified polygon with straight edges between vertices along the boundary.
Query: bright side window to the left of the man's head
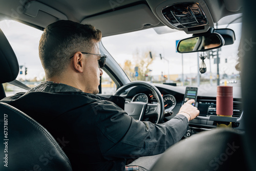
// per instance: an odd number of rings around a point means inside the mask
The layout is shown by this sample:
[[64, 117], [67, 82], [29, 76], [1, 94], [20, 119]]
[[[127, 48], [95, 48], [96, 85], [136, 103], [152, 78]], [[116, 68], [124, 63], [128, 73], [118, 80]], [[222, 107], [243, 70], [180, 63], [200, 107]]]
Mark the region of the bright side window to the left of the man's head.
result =
[[[38, 55], [38, 46], [42, 31], [33, 27], [15, 22], [3, 20], [0, 28], [8, 39], [19, 63], [17, 80], [33, 88], [45, 80], [45, 72], [41, 66]], [[13, 86], [10, 83], [3, 84], [6, 96], [26, 90]]]

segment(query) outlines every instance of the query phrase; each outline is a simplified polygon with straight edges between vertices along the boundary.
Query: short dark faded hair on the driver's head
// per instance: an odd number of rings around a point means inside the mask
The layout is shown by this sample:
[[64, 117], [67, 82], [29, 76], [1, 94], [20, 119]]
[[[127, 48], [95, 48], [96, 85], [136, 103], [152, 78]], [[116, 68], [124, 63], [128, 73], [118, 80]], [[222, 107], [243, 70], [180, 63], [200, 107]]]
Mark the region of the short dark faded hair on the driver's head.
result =
[[47, 26], [39, 41], [39, 57], [46, 76], [61, 74], [72, 55], [78, 51], [90, 52], [100, 39], [101, 31], [92, 25], [59, 20]]

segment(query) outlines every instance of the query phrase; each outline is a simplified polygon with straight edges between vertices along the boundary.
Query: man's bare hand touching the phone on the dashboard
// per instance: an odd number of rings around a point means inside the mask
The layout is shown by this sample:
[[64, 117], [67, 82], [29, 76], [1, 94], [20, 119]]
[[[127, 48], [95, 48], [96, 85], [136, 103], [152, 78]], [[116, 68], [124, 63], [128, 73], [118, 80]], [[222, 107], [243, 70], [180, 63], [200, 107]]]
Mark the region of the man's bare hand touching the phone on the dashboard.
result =
[[197, 117], [199, 115], [199, 110], [195, 106], [193, 106], [192, 103], [195, 103], [194, 99], [190, 99], [186, 103], [184, 103], [181, 106], [180, 111], [177, 115], [186, 116], [188, 121]]

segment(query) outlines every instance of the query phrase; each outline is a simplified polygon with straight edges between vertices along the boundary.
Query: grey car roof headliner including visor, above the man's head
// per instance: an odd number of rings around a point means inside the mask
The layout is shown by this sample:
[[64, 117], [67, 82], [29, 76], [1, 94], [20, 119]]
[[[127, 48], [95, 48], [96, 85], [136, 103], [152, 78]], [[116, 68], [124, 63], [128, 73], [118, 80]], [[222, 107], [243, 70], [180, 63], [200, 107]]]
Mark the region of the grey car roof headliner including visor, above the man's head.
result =
[[[168, 0], [170, 4], [178, 1]], [[103, 36], [108, 36], [164, 26], [156, 14], [156, 7], [163, 2], [166, 3], [164, 0], [0, 0], [0, 19], [11, 18], [39, 28], [45, 28], [58, 19], [69, 19], [82, 24], [90, 23], [100, 29]], [[222, 2], [205, 1], [215, 23], [224, 16], [241, 13], [241, 0], [236, 0], [236, 3], [233, 0]], [[51, 10], [46, 12], [44, 8]], [[33, 12], [36, 12], [34, 16]]]

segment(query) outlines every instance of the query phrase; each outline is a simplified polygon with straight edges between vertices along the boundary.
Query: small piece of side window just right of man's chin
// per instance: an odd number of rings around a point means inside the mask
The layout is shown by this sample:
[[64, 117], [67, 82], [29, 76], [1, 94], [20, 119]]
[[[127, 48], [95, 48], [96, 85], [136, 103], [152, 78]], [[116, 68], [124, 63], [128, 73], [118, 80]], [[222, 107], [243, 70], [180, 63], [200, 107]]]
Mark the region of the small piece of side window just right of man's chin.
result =
[[103, 71], [101, 76], [101, 94], [113, 94], [116, 91], [116, 84], [111, 77]]

